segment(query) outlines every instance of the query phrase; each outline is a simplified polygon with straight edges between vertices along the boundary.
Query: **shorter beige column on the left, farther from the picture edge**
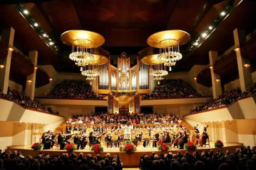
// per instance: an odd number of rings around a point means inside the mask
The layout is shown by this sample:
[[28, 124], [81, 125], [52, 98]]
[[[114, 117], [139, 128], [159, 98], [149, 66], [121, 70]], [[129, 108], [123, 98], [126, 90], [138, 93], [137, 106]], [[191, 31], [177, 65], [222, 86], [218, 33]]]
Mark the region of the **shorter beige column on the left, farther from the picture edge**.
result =
[[27, 76], [26, 78], [26, 91], [25, 95], [28, 96], [31, 100], [34, 100], [35, 96], [35, 77], [36, 77], [36, 70], [37, 70], [37, 58], [38, 52], [31, 51], [29, 52], [29, 58], [31, 59], [32, 63], [35, 66], [34, 72]]

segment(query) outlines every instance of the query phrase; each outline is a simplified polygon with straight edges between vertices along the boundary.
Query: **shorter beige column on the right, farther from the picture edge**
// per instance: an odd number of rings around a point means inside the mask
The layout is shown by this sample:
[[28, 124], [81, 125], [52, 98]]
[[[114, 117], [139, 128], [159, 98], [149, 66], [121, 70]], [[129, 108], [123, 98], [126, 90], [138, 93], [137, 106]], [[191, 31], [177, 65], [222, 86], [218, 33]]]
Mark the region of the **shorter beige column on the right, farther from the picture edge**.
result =
[[[209, 60], [210, 66], [213, 66], [215, 61], [218, 59], [218, 52], [209, 51]], [[219, 75], [214, 73], [214, 67], [211, 68], [211, 76], [212, 76], [212, 93], [213, 98], [218, 98], [221, 95], [221, 78]]]

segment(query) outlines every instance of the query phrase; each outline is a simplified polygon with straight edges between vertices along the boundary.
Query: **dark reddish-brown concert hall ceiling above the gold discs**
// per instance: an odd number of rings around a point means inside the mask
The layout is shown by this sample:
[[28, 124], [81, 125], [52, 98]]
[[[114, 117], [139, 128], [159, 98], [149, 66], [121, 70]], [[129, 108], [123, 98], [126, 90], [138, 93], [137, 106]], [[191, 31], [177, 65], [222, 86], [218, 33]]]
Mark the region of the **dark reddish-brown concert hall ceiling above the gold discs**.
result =
[[[147, 47], [151, 34], [166, 29], [181, 29], [196, 40], [215, 22], [221, 11], [237, 0], [8, 0], [0, 6], [0, 28], [15, 29], [14, 45], [24, 54], [38, 50], [38, 64], [52, 64], [57, 71], [79, 72], [68, 59], [71, 48], [60, 36], [70, 29], [84, 29], [105, 37], [102, 48], [110, 55], [122, 51], [137, 55]], [[59, 47], [58, 54], [42, 40], [13, 4], [23, 3], [29, 14]], [[247, 33], [256, 28], [256, 3], [243, 2], [225, 19], [198, 48], [188, 50], [193, 42], [182, 46], [183, 59], [174, 72], [189, 71], [195, 64], [209, 64], [208, 52], [222, 54], [233, 46], [233, 29]], [[4, 16], [4, 17], [3, 17]], [[40, 47], [40, 48], [38, 48]], [[225, 69], [225, 67], [223, 68]]]

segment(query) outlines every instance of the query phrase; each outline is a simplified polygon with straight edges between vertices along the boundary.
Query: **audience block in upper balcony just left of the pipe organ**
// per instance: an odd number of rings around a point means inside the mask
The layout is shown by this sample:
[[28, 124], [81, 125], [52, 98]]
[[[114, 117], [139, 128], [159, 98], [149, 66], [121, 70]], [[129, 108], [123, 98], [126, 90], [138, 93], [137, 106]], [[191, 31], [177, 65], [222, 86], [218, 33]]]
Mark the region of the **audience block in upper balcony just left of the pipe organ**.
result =
[[83, 80], [66, 79], [58, 84], [47, 96], [47, 98], [96, 98], [102, 99], [102, 95], [97, 95], [90, 84]]

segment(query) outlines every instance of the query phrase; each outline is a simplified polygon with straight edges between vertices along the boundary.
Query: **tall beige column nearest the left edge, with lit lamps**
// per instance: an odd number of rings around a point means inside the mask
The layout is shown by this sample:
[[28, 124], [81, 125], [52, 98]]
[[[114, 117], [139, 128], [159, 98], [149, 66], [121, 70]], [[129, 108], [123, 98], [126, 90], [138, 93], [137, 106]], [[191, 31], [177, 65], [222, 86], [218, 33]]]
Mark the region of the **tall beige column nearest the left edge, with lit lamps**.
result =
[[14, 40], [15, 30], [10, 27], [2, 30], [2, 40], [8, 45], [7, 56], [0, 60], [0, 89], [4, 94], [7, 93], [9, 86], [9, 76], [12, 60], [13, 40]]

